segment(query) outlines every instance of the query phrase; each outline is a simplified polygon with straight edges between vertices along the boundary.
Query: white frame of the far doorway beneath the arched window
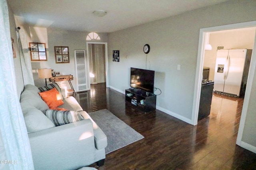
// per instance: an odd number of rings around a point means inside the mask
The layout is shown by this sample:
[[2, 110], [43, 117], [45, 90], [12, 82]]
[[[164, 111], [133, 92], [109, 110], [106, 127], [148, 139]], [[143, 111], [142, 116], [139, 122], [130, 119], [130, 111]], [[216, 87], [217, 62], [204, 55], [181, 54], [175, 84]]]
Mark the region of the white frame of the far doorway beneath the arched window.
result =
[[[108, 43], [104, 43], [104, 42], [91, 42], [88, 41], [86, 42], [86, 49], [87, 49], [87, 56], [89, 59], [89, 47], [88, 44], [104, 44], [105, 45], [105, 73], [106, 73], [106, 87], [109, 87], [108, 85]], [[88, 61], [89, 62], [89, 61]], [[89, 65], [89, 64], [88, 64]], [[89, 87], [91, 88], [91, 82], [90, 82], [90, 66], [88, 66], [88, 76], [89, 76]]]

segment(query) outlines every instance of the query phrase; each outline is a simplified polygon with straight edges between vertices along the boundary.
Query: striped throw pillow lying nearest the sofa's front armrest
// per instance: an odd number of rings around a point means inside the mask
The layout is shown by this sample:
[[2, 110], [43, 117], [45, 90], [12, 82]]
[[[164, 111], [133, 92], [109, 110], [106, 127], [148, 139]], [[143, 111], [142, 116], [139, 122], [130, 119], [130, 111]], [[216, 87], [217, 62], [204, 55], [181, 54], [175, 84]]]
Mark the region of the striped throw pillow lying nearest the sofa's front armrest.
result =
[[47, 109], [47, 110], [44, 110], [43, 113], [56, 126], [84, 120], [84, 117], [78, 111], [59, 111], [59, 110]]

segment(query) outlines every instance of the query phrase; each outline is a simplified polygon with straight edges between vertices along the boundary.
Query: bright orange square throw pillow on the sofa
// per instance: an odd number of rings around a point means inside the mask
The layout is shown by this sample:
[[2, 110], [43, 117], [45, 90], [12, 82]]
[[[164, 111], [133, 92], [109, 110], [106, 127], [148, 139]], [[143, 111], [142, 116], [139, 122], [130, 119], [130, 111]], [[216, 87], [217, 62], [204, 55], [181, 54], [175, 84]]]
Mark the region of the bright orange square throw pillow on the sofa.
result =
[[58, 106], [64, 104], [62, 97], [56, 88], [48, 90], [46, 92], [39, 92], [41, 98], [46, 102], [49, 108], [57, 108]]

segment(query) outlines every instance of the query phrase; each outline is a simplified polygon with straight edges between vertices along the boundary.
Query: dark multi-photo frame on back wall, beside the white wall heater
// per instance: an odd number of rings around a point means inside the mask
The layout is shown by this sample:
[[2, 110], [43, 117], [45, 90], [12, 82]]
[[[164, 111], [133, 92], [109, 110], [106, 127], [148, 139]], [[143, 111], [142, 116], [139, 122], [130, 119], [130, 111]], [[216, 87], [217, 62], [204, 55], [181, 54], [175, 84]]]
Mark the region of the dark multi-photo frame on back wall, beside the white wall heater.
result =
[[55, 63], [69, 63], [68, 47], [54, 46]]

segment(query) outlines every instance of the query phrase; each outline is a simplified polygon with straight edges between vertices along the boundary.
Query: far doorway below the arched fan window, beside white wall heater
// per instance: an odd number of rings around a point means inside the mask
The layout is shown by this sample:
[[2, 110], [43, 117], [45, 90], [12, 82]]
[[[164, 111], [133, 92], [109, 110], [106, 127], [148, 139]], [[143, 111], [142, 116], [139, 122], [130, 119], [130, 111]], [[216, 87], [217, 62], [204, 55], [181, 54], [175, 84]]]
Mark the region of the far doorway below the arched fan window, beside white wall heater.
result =
[[108, 87], [108, 47], [107, 43], [86, 42], [89, 58], [89, 84], [106, 82]]

